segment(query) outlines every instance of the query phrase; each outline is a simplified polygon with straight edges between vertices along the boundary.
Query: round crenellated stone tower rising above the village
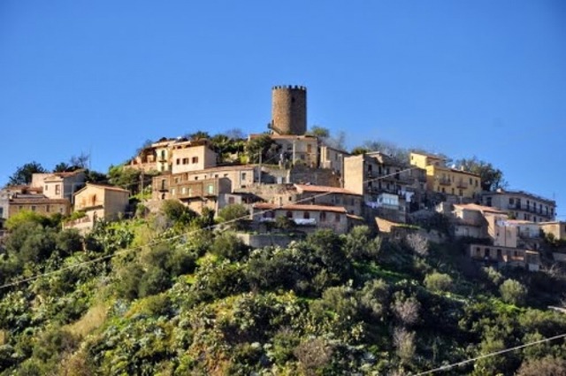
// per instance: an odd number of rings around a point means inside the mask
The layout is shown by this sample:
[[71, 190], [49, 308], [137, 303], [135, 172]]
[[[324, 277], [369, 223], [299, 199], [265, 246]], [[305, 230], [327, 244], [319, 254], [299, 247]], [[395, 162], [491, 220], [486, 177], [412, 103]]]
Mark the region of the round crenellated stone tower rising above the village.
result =
[[272, 88], [272, 123], [276, 134], [307, 132], [307, 88], [274, 86]]

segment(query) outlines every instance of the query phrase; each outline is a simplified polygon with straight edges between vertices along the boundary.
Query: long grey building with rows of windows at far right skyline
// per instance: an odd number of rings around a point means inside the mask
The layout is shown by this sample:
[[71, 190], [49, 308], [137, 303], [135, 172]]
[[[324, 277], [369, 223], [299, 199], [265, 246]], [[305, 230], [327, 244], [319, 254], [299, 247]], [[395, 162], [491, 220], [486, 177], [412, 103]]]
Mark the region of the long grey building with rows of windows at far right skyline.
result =
[[484, 192], [481, 200], [486, 206], [493, 206], [501, 211], [509, 212], [514, 219], [532, 222], [552, 222], [555, 220], [555, 200], [533, 195], [522, 190], [508, 191], [497, 189], [494, 192]]

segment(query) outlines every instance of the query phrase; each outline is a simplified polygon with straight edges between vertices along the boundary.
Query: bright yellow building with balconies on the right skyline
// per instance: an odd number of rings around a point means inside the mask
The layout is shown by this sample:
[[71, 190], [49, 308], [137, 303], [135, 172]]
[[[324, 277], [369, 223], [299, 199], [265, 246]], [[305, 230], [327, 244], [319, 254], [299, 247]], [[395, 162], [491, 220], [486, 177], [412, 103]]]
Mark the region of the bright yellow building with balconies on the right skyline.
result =
[[427, 190], [465, 198], [474, 198], [481, 193], [479, 175], [447, 167], [442, 157], [410, 153], [410, 164], [426, 170]]

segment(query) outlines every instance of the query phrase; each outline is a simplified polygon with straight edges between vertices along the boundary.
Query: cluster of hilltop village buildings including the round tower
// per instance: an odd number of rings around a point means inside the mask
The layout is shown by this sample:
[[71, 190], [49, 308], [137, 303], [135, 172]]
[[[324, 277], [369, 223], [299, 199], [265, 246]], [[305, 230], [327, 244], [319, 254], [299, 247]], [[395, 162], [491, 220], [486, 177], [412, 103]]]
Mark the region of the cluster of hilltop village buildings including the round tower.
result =
[[[142, 187], [88, 182], [82, 169], [34, 173], [31, 184], [2, 189], [0, 218], [19, 211], [60, 213], [67, 218], [65, 228], [85, 233], [97, 221], [133, 215], [132, 196], [141, 189], [146, 193], [141, 204], [149, 211], [167, 200], [215, 217], [227, 206], [245, 207], [249, 220], [241, 238], [254, 247], [292, 240], [271, 235], [280, 218], [298, 234], [321, 228], [345, 234], [360, 224], [391, 233], [418, 228], [440, 214], [450, 235], [468, 240], [471, 259], [536, 271], [543, 240], [566, 240], [566, 222], [555, 220], [554, 200], [486, 190], [480, 174], [449, 166], [446, 157], [417, 151], [406, 160], [379, 150], [352, 154], [326, 142], [325, 134], [310, 133], [304, 87], [272, 88], [268, 127], [247, 140], [226, 135], [211, 140], [199, 132], [146, 144], [121, 166], [141, 172]], [[566, 261], [561, 252], [553, 257]]]

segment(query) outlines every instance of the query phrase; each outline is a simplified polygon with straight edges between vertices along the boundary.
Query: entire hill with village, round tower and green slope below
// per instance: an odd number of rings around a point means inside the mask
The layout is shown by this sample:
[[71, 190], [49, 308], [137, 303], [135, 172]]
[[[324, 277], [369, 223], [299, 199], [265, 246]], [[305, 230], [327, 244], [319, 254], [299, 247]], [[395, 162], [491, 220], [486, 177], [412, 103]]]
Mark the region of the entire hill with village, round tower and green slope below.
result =
[[275, 87], [264, 134], [19, 168], [0, 376], [566, 374], [555, 201], [306, 119], [306, 88]]

